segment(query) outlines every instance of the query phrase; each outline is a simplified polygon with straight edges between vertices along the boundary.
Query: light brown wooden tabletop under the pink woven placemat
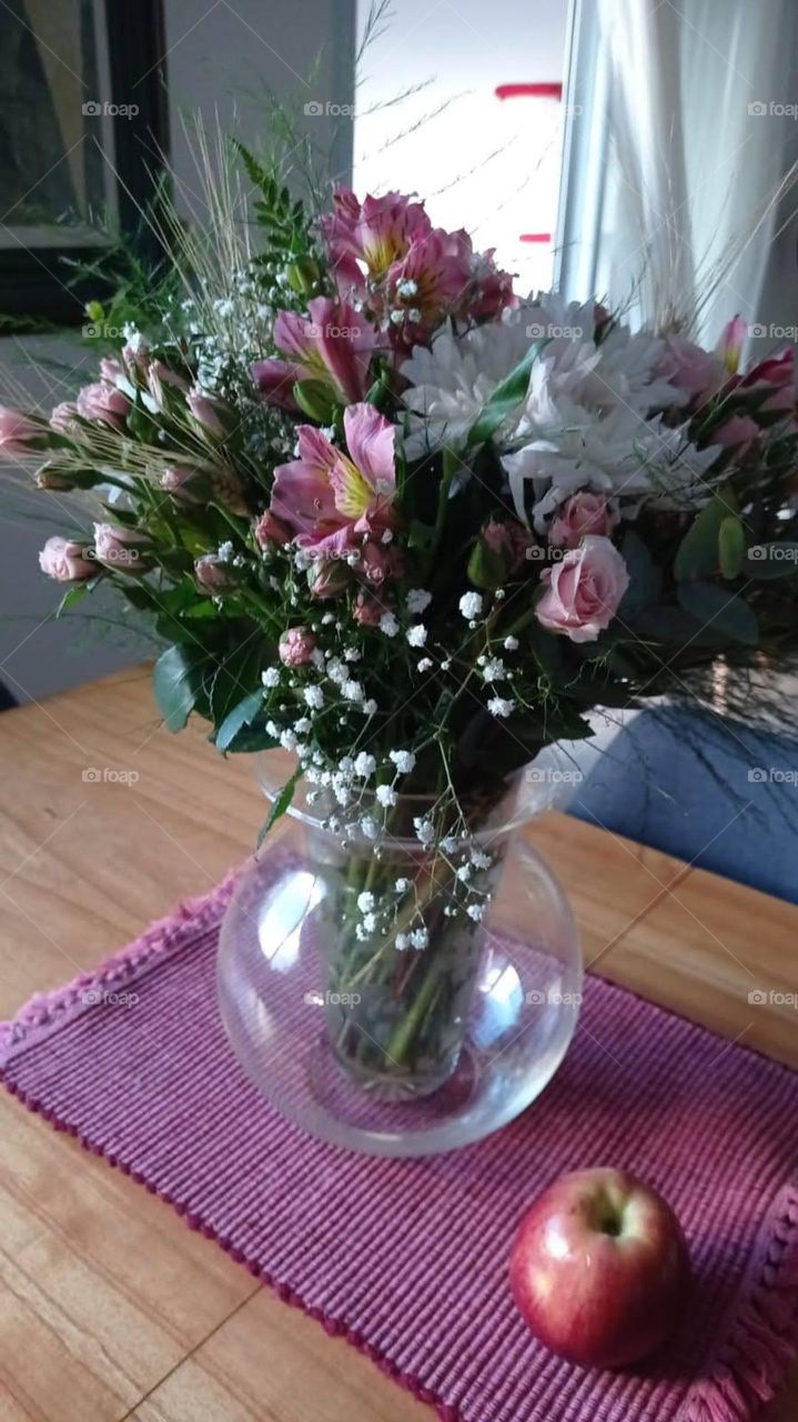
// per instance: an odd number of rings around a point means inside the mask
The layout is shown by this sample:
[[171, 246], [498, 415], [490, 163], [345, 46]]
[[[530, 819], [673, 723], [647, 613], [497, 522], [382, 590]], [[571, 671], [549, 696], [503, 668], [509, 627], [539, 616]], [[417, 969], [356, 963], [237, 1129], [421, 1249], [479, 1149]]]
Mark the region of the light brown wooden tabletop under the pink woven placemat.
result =
[[[0, 769], [0, 1017], [210, 889], [261, 813], [246, 757], [159, 727], [146, 668], [1, 715]], [[795, 1011], [748, 1004], [798, 990], [797, 909], [561, 815], [532, 838], [588, 964], [798, 1066]], [[432, 1422], [3, 1092], [0, 1140], [0, 1422]], [[795, 1418], [798, 1374], [789, 1398], [772, 1422]]]

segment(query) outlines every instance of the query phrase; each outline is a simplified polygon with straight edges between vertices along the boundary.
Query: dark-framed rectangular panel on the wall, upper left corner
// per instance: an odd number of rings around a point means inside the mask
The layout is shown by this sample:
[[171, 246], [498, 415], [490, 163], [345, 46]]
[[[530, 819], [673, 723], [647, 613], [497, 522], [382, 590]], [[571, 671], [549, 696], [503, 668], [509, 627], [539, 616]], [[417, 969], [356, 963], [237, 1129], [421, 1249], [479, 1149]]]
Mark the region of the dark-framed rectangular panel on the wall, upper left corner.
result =
[[[78, 319], [64, 257], [133, 232], [163, 142], [159, 0], [4, 0], [0, 311]], [[92, 290], [94, 294], [94, 290]], [[7, 323], [6, 323], [7, 324]]]

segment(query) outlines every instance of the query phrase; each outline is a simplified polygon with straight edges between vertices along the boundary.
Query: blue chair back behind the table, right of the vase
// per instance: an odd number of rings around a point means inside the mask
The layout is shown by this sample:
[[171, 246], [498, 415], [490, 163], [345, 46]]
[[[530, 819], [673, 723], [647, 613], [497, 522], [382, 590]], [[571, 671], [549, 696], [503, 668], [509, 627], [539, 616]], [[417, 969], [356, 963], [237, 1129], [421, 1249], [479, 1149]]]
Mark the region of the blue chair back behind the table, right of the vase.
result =
[[711, 712], [640, 711], [592, 762], [568, 809], [798, 903], [798, 742], [781, 735]]

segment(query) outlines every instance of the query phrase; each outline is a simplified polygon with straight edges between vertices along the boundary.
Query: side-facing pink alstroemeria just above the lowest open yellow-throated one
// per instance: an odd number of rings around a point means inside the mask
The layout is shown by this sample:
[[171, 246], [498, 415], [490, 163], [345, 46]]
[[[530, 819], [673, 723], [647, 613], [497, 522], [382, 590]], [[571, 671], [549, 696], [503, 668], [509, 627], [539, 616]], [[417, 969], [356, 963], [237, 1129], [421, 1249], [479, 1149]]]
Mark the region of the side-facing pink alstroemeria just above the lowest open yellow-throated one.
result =
[[376, 336], [346, 301], [317, 296], [308, 301], [308, 316], [280, 311], [273, 336], [287, 358], [258, 360], [250, 367], [261, 395], [271, 404], [297, 410], [293, 390], [300, 380], [325, 381], [344, 404], [364, 398]]

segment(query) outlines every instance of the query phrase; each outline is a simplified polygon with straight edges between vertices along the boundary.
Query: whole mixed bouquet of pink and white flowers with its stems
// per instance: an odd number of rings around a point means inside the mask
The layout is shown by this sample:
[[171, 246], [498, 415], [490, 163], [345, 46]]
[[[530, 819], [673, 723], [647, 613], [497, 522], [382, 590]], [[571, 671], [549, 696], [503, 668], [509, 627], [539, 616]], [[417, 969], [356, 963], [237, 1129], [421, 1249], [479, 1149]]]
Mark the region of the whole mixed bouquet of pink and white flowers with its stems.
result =
[[738, 319], [710, 351], [520, 296], [415, 198], [314, 213], [243, 161], [263, 240], [183, 252], [158, 336], [48, 419], [3, 410], [0, 449], [95, 501], [41, 567], [152, 620], [166, 725], [294, 757], [267, 828], [297, 798], [335, 846], [337, 1054], [425, 1094], [523, 768], [795, 648], [792, 354], [743, 371]]

